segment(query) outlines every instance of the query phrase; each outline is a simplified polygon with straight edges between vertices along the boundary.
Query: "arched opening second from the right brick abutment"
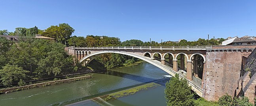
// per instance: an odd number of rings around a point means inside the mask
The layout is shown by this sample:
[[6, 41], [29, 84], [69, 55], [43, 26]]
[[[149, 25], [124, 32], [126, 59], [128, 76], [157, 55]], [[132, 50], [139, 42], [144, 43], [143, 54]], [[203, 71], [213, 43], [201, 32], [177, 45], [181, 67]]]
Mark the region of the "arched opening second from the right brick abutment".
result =
[[185, 54], [178, 54], [176, 57], [177, 60], [177, 65], [178, 65], [178, 70], [184, 70], [187, 71], [187, 61], [188, 57]]

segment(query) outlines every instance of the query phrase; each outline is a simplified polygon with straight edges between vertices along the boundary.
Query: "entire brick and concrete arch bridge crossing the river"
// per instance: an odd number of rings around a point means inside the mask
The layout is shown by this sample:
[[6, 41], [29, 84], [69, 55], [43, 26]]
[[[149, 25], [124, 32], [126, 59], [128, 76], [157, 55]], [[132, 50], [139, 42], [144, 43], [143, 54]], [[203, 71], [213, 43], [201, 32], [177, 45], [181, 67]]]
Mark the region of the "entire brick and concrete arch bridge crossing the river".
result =
[[[69, 55], [87, 65], [98, 55], [119, 53], [144, 60], [170, 75], [178, 73], [197, 95], [217, 101], [228, 93], [236, 95], [243, 55], [249, 46], [170, 46], [170, 47], [68, 47]], [[228, 87], [227, 87], [228, 85]]]

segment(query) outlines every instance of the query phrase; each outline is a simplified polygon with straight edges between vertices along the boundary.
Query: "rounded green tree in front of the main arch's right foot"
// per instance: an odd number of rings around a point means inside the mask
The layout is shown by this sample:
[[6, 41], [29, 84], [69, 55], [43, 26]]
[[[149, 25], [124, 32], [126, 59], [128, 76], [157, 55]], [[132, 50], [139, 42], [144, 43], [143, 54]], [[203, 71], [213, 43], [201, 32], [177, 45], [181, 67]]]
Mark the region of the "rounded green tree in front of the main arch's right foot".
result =
[[186, 79], [180, 79], [176, 74], [165, 84], [165, 99], [167, 106], [194, 106], [191, 86], [188, 86]]

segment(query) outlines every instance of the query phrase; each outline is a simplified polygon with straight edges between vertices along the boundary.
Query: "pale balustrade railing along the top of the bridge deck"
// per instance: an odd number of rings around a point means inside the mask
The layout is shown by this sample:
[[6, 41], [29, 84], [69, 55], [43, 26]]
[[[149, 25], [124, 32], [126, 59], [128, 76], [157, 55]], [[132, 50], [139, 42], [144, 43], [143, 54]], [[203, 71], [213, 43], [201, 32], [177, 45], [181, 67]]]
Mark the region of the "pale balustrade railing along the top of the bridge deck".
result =
[[74, 47], [74, 49], [212, 49], [212, 46], [109, 46]]

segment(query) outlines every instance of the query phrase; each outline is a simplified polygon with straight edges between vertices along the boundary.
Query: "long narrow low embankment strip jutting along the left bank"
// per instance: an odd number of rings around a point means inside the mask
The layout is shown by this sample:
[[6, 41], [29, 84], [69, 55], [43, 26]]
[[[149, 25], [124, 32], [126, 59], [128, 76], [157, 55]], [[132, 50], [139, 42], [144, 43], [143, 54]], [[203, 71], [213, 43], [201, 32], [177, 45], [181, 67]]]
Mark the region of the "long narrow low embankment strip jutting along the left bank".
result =
[[83, 77], [76, 77], [76, 78], [70, 78], [70, 79], [62, 79], [62, 80], [42, 82], [42, 83], [37, 83], [37, 84], [30, 84], [30, 85], [26, 85], [26, 86], [6, 88], [6, 89], [0, 90], [0, 94], [10, 93], [13, 91], [27, 90], [27, 89], [31, 89], [31, 88], [38, 88], [38, 87], [43, 87], [43, 86], [49, 86], [49, 85], [55, 85], [55, 84], [61, 84], [61, 83], [66, 83], [66, 82], [72, 82], [72, 81], [76, 81], [76, 80], [90, 79], [90, 78], [93, 78], [93, 77], [91, 77], [91, 75], [87, 75], [87, 76], [83, 76]]

